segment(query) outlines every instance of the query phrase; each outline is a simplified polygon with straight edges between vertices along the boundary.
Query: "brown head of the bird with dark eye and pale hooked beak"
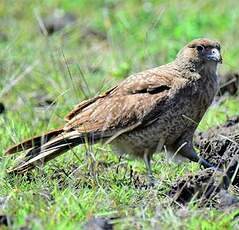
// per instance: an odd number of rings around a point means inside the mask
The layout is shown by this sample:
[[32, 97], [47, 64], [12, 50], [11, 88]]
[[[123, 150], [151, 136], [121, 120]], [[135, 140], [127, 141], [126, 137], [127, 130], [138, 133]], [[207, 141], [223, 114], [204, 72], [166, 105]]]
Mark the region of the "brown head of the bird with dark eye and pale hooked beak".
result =
[[195, 39], [181, 49], [176, 60], [198, 68], [217, 68], [222, 63], [220, 43], [207, 38]]

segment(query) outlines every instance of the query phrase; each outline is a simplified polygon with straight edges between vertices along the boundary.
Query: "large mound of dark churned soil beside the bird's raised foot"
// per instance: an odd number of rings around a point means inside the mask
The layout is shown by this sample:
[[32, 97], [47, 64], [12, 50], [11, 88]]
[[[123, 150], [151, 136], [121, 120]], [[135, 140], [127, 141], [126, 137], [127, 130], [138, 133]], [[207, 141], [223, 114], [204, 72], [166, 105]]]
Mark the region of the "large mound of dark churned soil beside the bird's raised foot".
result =
[[200, 155], [220, 170], [204, 169], [179, 178], [168, 195], [174, 203], [181, 205], [195, 202], [199, 206], [218, 209], [238, 205], [238, 198], [228, 188], [231, 184], [239, 186], [239, 116], [207, 132], [197, 133], [194, 142]]

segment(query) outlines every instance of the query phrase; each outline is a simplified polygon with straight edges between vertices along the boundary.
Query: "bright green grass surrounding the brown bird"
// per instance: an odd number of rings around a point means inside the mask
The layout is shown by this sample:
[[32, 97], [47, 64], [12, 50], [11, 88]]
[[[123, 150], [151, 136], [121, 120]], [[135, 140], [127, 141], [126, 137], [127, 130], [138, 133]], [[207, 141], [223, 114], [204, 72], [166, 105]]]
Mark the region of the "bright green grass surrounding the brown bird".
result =
[[[52, 36], [39, 22], [56, 9], [74, 13], [77, 21]], [[121, 216], [117, 229], [233, 229], [232, 216], [214, 209], [189, 207], [180, 216], [161, 207], [165, 192], [178, 176], [193, 172], [193, 163], [176, 165], [154, 157], [160, 183], [136, 189], [130, 169], [146, 180], [144, 164], [96, 146], [86, 154], [76, 148], [50, 162], [42, 171], [23, 177], [6, 176], [14, 157], [3, 155], [12, 143], [64, 124], [64, 116], [79, 101], [102, 92], [130, 73], [164, 64], [193, 38], [221, 41], [220, 72], [237, 71], [237, 1], [86, 1], [43, 0], [0, 3], [0, 214], [13, 217], [12, 229], [75, 229], [90, 216]], [[97, 31], [104, 36], [92, 35]], [[15, 84], [13, 84], [15, 82]], [[55, 104], [39, 107], [45, 97]], [[200, 129], [238, 114], [238, 99], [215, 103]], [[76, 170], [78, 168], [78, 170]], [[3, 200], [3, 202], [2, 202]]]

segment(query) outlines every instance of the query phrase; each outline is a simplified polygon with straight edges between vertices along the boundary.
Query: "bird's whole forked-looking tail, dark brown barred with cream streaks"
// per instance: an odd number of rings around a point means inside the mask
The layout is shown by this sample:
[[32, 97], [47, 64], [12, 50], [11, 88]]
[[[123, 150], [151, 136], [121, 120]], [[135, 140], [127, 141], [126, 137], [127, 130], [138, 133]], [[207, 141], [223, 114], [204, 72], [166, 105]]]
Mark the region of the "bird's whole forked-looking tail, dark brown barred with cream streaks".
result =
[[[57, 136], [55, 136], [58, 133]], [[101, 137], [100, 135], [92, 135], [87, 133], [79, 133], [78, 131], [69, 131], [64, 133], [60, 130], [49, 132], [48, 135], [44, 135], [46, 140], [49, 141], [41, 144], [41, 136], [35, 137], [31, 140], [22, 142], [9, 150], [7, 153], [13, 153], [16, 151], [24, 150], [27, 148], [26, 155], [21, 163], [14, 168], [10, 169], [9, 173], [24, 173], [30, 169], [35, 168], [37, 165], [44, 165], [46, 162], [54, 159], [55, 157], [63, 154], [64, 152], [74, 148], [77, 145], [85, 142], [97, 141]]]

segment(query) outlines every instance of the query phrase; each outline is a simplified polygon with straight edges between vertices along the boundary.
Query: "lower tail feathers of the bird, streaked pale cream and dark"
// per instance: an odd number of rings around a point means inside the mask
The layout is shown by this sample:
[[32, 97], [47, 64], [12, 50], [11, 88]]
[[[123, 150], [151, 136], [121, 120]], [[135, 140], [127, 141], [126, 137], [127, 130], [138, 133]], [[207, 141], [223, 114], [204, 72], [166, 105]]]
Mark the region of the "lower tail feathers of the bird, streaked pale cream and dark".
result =
[[[97, 141], [100, 138], [100, 135], [94, 135], [94, 141]], [[43, 145], [30, 148], [22, 162], [10, 169], [8, 172], [18, 174], [24, 173], [36, 166], [44, 165], [53, 158], [63, 154], [79, 144], [91, 141], [91, 139], [91, 134], [79, 133], [77, 131], [61, 133]]]

